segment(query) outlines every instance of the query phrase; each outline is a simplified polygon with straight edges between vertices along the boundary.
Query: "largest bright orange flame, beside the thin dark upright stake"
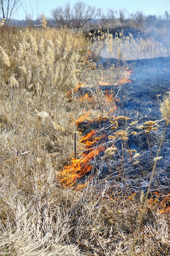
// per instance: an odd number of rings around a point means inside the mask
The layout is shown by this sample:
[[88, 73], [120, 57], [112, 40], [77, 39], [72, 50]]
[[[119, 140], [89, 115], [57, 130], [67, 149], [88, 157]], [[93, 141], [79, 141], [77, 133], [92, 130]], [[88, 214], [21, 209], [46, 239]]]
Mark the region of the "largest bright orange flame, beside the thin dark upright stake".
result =
[[[73, 187], [73, 184], [77, 182], [77, 179], [80, 179], [86, 173], [91, 171], [93, 167], [91, 160], [94, 159], [100, 151], [106, 149], [102, 144], [97, 146], [97, 141], [105, 137], [105, 135], [99, 137], [96, 137], [96, 135], [97, 133], [95, 130], [84, 135], [80, 142], [85, 144], [85, 153], [78, 154], [77, 157], [80, 158], [73, 158], [71, 164], [64, 166], [63, 170], [60, 171], [59, 178], [65, 186]], [[90, 148], [90, 146], [93, 147]]]

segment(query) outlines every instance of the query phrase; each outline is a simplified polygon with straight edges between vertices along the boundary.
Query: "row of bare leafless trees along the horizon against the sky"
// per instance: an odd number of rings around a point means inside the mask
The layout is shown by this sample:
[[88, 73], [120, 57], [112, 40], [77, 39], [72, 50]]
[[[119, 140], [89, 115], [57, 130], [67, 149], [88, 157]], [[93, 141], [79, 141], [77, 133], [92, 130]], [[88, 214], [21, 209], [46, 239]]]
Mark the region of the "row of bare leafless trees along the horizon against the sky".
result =
[[[22, 6], [20, 0], [0, 0], [0, 17], [6, 18], [6, 23], [17, 12], [18, 8]], [[109, 22], [119, 22], [122, 24], [127, 20], [133, 20], [136, 24], [141, 24], [147, 16], [142, 11], [137, 11], [136, 13], [128, 13], [126, 9], [121, 8], [119, 11], [113, 8], [107, 8], [103, 10], [101, 8], [95, 8], [91, 5], [87, 5], [85, 2], [78, 1], [73, 7], [70, 3], [56, 7], [51, 10], [51, 16], [55, 20], [55, 25], [58, 27], [73, 27], [80, 28], [87, 24], [93, 24], [96, 19], [100, 20], [100, 23], [108, 25]], [[159, 19], [170, 20], [170, 14], [165, 11], [163, 17], [158, 17]], [[28, 19], [26, 15], [26, 19]]]

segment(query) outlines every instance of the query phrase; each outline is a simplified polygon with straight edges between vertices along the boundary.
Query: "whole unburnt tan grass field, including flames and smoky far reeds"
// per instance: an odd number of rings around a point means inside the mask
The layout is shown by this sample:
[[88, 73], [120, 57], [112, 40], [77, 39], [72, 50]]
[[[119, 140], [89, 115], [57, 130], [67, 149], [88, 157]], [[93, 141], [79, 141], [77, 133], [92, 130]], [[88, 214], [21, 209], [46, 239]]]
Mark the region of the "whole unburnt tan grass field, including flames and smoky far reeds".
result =
[[[128, 120], [115, 116], [119, 91], [108, 95], [100, 85], [130, 82], [130, 58], [169, 56], [168, 31], [157, 31], [156, 40], [123, 31], [87, 37], [45, 22], [0, 28], [0, 255], [170, 255], [169, 195], [163, 201], [158, 193], [149, 197], [149, 189], [121, 191], [95, 168], [97, 157], [109, 165], [117, 150], [98, 143], [106, 137], [102, 121], [117, 128], [116, 118]], [[103, 67], [101, 55], [121, 67]], [[161, 112], [166, 132], [168, 96]], [[119, 137], [123, 158], [127, 132], [121, 132], [109, 139]]]

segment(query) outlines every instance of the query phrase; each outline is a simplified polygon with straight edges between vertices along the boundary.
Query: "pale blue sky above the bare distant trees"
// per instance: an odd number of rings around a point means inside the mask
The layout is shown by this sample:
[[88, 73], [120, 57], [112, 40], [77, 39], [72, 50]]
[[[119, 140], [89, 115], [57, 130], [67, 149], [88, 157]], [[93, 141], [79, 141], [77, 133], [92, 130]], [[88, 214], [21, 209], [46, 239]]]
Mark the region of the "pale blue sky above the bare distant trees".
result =
[[[31, 14], [36, 19], [42, 13], [49, 18], [51, 16], [50, 11], [55, 7], [62, 6], [67, 2], [70, 2], [73, 6], [77, 0], [21, 0], [23, 7], [18, 10], [18, 17], [15, 18], [24, 19], [26, 14]], [[163, 16], [164, 11], [170, 13], [170, 0], [82, 0], [87, 5], [94, 6], [96, 8], [107, 9], [111, 7], [115, 10], [124, 8], [128, 13], [135, 13], [136, 11], [142, 11], [144, 14], [157, 16]]]

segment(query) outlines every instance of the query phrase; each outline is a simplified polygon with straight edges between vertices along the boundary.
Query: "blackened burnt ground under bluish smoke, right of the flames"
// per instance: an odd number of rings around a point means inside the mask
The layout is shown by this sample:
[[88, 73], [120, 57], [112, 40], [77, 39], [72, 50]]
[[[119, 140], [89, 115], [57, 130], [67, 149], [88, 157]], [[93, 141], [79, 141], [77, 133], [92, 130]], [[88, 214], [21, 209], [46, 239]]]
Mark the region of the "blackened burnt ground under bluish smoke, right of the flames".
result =
[[[115, 63], [115, 59], [110, 59], [110, 64]], [[101, 60], [106, 66], [108, 60]], [[119, 63], [121, 65], [121, 63]], [[128, 140], [122, 157], [122, 141], [115, 142], [117, 152], [113, 158], [102, 161], [101, 156], [93, 162], [95, 171], [98, 173], [99, 180], [106, 179], [110, 184], [119, 186], [122, 191], [144, 192], [147, 191], [150, 175], [152, 172], [154, 157], [157, 155], [159, 143], [163, 135], [165, 121], [161, 120], [159, 104], [162, 97], [170, 90], [170, 58], [153, 58], [135, 61], [127, 61], [126, 65], [132, 69], [134, 74], [131, 76], [132, 83], [115, 86], [115, 93], [119, 90], [117, 103], [117, 116], [124, 115], [130, 118], [127, 122], [119, 121], [117, 130], [128, 132]], [[113, 85], [102, 86], [102, 90], [113, 89]], [[123, 106], [123, 107], [122, 107]], [[146, 121], [156, 121], [158, 130], [152, 130], [149, 134], [144, 129], [137, 128], [142, 126]], [[130, 123], [137, 121], [137, 124], [130, 126]], [[81, 124], [88, 126], [87, 124]], [[109, 125], [108, 121], [102, 122], [103, 127]], [[91, 124], [91, 127], [93, 124]], [[96, 124], [94, 122], [94, 128]], [[137, 135], [131, 135], [136, 131]], [[89, 131], [87, 131], [89, 132]], [[114, 130], [111, 128], [103, 129], [106, 135], [113, 135]], [[112, 144], [107, 144], [111, 146]], [[136, 150], [139, 157], [132, 159], [127, 150]], [[170, 125], [166, 130], [166, 135], [161, 146], [155, 175], [152, 180], [151, 191], [160, 191], [162, 194], [170, 193]], [[139, 161], [137, 164], [133, 162]]]

